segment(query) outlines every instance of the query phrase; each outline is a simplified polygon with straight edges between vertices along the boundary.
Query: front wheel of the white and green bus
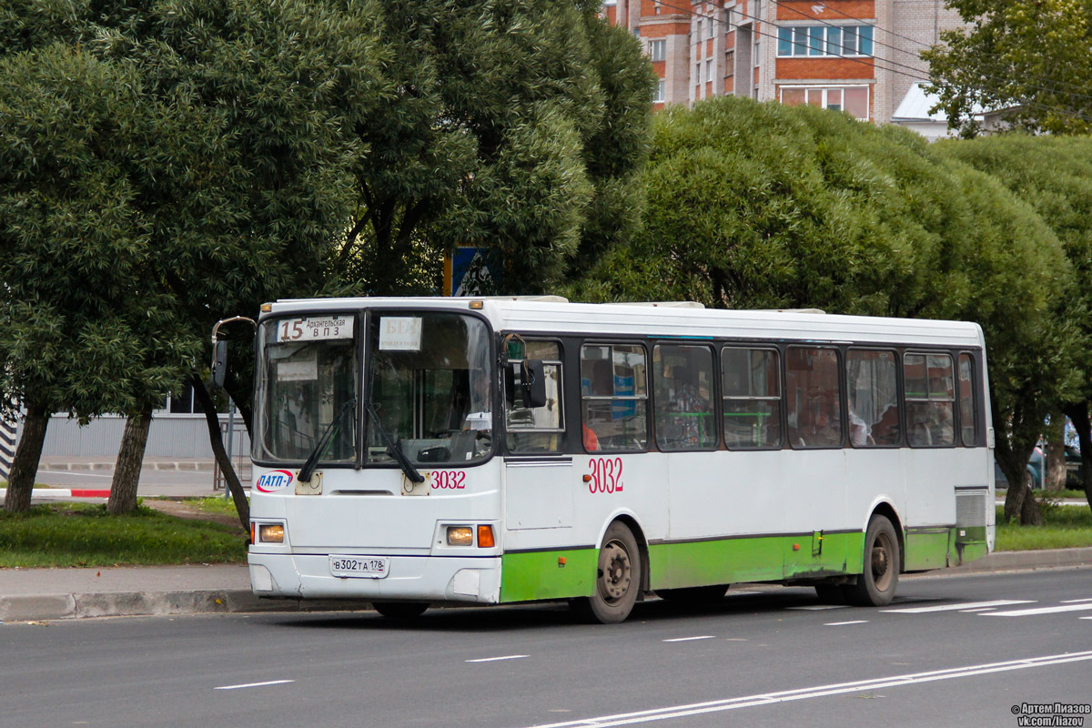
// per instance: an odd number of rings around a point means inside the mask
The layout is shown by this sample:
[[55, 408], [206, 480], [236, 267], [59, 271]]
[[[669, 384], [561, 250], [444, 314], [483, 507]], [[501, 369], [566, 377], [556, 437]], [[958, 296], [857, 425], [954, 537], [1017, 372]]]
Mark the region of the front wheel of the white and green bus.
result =
[[603, 536], [595, 575], [595, 593], [573, 599], [578, 614], [592, 622], [617, 624], [626, 621], [641, 590], [641, 551], [633, 533], [615, 521]]

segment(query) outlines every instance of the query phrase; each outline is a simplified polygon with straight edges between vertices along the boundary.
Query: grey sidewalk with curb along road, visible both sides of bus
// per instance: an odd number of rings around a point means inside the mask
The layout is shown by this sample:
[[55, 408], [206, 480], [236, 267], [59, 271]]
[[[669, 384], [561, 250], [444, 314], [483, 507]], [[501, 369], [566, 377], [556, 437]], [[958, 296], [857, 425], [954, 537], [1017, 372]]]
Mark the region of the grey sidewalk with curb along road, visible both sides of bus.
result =
[[[1092, 547], [1002, 551], [931, 575], [1092, 565]], [[363, 601], [259, 599], [246, 565], [0, 569], [0, 622], [210, 612], [361, 610]]]

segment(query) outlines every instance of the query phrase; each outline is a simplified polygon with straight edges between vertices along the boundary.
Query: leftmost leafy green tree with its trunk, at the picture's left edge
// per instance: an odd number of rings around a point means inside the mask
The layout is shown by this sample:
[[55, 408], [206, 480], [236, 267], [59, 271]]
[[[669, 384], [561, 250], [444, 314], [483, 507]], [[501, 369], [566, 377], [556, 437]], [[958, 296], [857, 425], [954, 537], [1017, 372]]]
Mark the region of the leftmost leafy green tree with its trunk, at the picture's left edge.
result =
[[27, 409], [4, 508], [22, 511], [51, 413], [128, 411], [191, 350], [132, 204], [124, 150], [162, 120], [135, 70], [54, 44], [0, 58], [0, 386]]

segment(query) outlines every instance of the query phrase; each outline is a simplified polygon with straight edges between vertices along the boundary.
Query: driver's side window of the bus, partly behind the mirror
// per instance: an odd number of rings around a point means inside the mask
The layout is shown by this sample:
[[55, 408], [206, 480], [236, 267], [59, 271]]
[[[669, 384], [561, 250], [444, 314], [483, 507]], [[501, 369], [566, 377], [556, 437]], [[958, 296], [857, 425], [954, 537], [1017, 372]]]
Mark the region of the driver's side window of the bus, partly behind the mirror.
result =
[[[559, 452], [565, 446], [565, 419], [561, 410], [561, 347], [557, 342], [529, 339], [520, 347], [517, 358], [541, 359], [546, 377], [546, 404], [526, 408], [523, 398], [506, 397], [505, 422], [508, 431], [508, 449], [513, 453]], [[512, 394], [512, 393], [510, 393]]]

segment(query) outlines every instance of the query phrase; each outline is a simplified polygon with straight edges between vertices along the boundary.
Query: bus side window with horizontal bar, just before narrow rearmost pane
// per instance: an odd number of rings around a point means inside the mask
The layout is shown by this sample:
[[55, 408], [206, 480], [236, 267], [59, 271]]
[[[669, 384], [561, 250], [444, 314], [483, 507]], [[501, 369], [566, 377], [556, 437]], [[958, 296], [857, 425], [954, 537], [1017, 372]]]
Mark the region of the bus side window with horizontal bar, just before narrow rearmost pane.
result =
[[956, 444], [952, 358], [947, 354], [907, 354], [903, 357], [902, 367], [906, 392], [906, 440], [911, 446], [945, 447]]

